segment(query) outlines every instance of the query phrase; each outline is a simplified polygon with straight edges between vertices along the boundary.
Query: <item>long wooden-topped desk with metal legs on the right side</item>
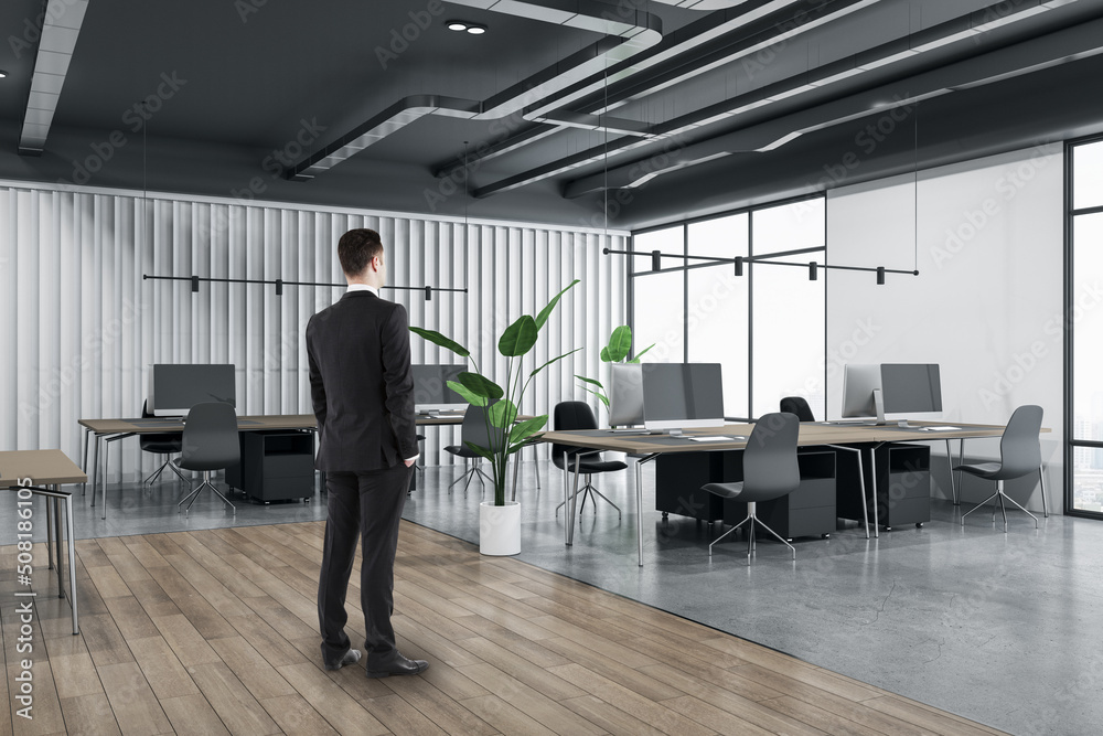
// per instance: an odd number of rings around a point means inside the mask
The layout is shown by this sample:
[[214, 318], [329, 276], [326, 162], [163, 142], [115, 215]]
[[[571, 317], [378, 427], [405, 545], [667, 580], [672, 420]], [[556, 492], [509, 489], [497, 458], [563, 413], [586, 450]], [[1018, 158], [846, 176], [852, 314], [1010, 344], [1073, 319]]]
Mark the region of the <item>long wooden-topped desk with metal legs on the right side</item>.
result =
[[[931, 430], [924, 427], [953, 426], [954, 429]], [[627, 452], [639, 456], [635, 465], [635, 534], [636, 547], [639, 552], [639, 564], [643, 566], [643, 472], [645, 463], [654, 460], [660, 455], [670, 452], [711, 452], [718, 450], [741, 450], [747, 447], [747, 437], [750, 437], [754, 425], [751, 424], [729, 424], [714, 429], [693, 429], [685, 433], [685, 437], [670, 437], [665, 435], [630, 435], [614, 433], [609, 429], [588, 429], [575, 431], [546, 431], [540, 437], [542, 441], [556, 442], [559, 445], [570, 445], [572, 447], [586, 447], [595, 450], [609, 450]], [[1042, 429], [1049, 431], [1049, 429]], [[800, 447], [827, 446], [840, 450], [857, 454], [859, 479], [864, 477], [861, 470], [861, 450], [869, 449], [870, 462], [874, 461], [874, 450], [886, 442], [917, 442], [945, 440], [946, 451], [950, 451], [950, 440], [964, 440], [972, 437], [999, 437], [1004, 434], [1002, 425], [962, 424], [960, 422], [912, 422], [908, 427], [897, 425], [866, 426], [853, 424], [833, 424], [827, 422], [803, 422], [796, 444]], [[696, 442], [687, 437], [726, 435], [736, 437], [731, 441]], [[855, 447], [858, 446], [858, 447]], [[964, 449], [962, 449], [964, 452]], [[567, 467], [567, 466], [565, 466]], [[875, 469], [876, 470], [876, 469]], [[875, 472], [876, 476], [876, 472]], [[953, 482], [953, 473], [950, 477], [951, 487], [954, 489], [954, 502], [956, 503], [956, 486]], [[578, 472], [575, 473], [575, 487], [578, 487]], [[865, 505], [866, 489], [861, 482], [861, 498]], [[570, 508], [567, 519], [574, 519], [574, 495], [569, 494], [566, 474], [564, 476], [564, 501]], [[874, 531], [877, 535], [877, 505], [874, 505]], [[866, 536], [869, 536], [869, 519], [865, 519]], [[565, 524], [564, 542], [572, 544], [574, 524]]]

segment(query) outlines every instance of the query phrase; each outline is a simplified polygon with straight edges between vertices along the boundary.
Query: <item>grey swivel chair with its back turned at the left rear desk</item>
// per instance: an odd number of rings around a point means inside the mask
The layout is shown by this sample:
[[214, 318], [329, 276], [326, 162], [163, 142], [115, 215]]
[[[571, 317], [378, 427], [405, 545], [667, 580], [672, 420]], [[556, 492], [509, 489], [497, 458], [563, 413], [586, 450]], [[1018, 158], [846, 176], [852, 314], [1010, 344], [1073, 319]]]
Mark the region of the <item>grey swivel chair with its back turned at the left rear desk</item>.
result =
[[184, 515], [188, 515], [188, 510], [195, 502], [195, 497], [204, 488], [210, 488], [215, 495], [234, 510], [234, 515], [237, 515], [237, 506], [211, 483], [211, 472], [240, 462], [239, 442], [237, 413], [233, 406], [224, 402], [207, 402], [196, 404], [191, 408], [184, 420], [184, 437], [176, 465], [184, 470], [201, 471], [203, 482], [176, 503], [179, 506], [188, 501], [188, 505], [184, 506]]

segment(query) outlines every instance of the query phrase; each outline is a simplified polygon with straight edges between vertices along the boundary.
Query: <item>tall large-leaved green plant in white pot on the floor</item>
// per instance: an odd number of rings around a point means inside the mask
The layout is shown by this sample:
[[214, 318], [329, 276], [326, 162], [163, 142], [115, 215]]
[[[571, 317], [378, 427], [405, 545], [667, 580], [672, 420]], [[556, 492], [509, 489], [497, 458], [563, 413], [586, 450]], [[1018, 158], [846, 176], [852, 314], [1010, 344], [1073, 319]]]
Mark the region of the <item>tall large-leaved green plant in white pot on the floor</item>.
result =
[[[521, 505], [516, 498], [511, 501], [505, 499], [505, 483], [508, 477], [506, 470], [510, 456], [516, 455], [528, 441], [538, 437], [537, 433], [547, 424], [548, 415], [542, 414], [517, 420], [518, 407], [524, 399], [528, 384], [540, 371], [556, 361], [578, 352], [581, 348], [553, 358], [539, 367], [529, 371], [527, 375], [522, 370], [522, 364], [525, 355], [536, 346], [540, 329], [547, 323], [547, 319], [555, 306], [559, 303], [560, 297], [576, 284], [578, 284], [578, 279], [559, 291], [536, 317], [524, 314], [502, 332], [502, 337], [497, 340], [497, 351], [507, 361], [505, 381], [501, 385], [483, 375], [479, 364], [471, 356], [471, 352], [463, 345], [446, 338], [440, 332], [410, 327], [410, 332], [471, 361], [472, 370], [460, 373], [457, 376], [459, 381], [449, 381], [448, 385], [472, 406], [488, 407], [486, 434], [490, 437], [491, 446], [481, 447], [467, 442], [468, 447], [490, 461], [494, 483], [494, 502], [479, 504], [479, 551], [483, 554], [515, 555], [521, 552]], [[516, 495], [516, 489], [514, 489], [514, 495]]]

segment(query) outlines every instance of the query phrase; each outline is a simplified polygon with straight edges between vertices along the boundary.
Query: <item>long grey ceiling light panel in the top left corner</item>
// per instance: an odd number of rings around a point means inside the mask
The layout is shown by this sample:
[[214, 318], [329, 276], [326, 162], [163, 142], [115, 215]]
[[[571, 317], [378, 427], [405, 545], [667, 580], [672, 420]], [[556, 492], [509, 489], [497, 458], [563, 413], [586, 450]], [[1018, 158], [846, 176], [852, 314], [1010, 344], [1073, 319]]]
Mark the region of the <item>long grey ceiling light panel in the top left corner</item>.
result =
[[87, 9], [88, 0], [51, 0], [46, 3], [39, 53], [31, 74], [31, 92], [19, 134], [19, 152], [24, 156], [39, 156], [45, 148]]

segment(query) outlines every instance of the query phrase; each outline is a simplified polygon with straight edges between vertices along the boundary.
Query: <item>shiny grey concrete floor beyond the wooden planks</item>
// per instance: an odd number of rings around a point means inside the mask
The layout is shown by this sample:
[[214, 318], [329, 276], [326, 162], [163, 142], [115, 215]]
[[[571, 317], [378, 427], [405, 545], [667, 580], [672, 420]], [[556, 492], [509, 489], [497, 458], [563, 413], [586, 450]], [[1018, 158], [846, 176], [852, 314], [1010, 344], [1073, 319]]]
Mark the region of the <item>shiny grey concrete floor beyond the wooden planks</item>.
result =
[[[644, 566], [636, 565], [633, 472], [598, 479], [624, 514], [587, 504], [565, 547], [560, 473], [523, 463], [520, 559], [668, 610], [913, 697], [1011, 734], [1097, 734], [1103, 727], [1103, 524], [1009, 513], [1008, 533], [988, 513], [959, 524], [960, 510], [935, 501], [923, 529], [857, 526], [831, 540], [799, 540], [794, 563], [762, 542], [746, 565], [741, 537], [717, 545], [706, 524], [654, 508], [654, 471], [644, 471]], [[409, 499], [409, 521], [478, 543], [479, 488], [449, 494], [460, 467], [429, 468]], [[219, 483], [219, 488], [224, 488]], [[460, 486], [457, 489], [461, 488]], [[152, 491], [113, 486], [108, 520], [75, 487], [76, 536], [116, 536], [324, 519], [324, 503], [259, 505], [235, 497], [231, 514], [210, 493], [188, 518], [183, 486]], [[977, 499], [979, 500], [979, 499]], [[968, 505], [964, 509], [967, 510]], [[14, 541], [14, 504], [0, 509], [0, 544]], [[998, 515], [997, 515], [998, 519]], [[42, 526], [40, 525], [40, 530]], [[731, 538], [731, 537], [729, 537]]]

